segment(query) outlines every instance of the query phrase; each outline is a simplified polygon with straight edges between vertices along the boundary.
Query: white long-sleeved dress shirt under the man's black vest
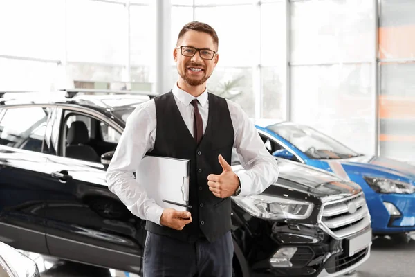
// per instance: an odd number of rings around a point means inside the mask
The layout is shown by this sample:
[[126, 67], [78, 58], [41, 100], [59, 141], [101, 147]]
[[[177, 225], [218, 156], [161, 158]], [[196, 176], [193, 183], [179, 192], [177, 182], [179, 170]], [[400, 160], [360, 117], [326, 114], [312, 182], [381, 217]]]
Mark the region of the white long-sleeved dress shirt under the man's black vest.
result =
[[[193, 135], [194, 99], [189, 93], [178, 88], [172, 89], [178, 109]], [[199, 112], [203, 120], [203, 133], [208, 124], [208, 91], [200, 96]], [[236, 148], [243, 170], [235, 172], [241, 182], [241, 196], [263, 192], [277, 181], [279, 174], [277, 161], [266, 150], [255, 125], [235, 102], [227, 100], [234, 129], [234, 148]], [[143, 220], [160, 224], [163, 208], [154, 199], [147, 197], [145, 190], [137, 183], [133, 173], [145, 154], [154, 148], [156, 140], [156, 105], [154, 100], [142, 103], [127, 118], [126, 127], [113, 159], [107, 170], [109, 190], [115, 193], [129, 211]], [[219, 161], [218, 161], [219, 163]]]

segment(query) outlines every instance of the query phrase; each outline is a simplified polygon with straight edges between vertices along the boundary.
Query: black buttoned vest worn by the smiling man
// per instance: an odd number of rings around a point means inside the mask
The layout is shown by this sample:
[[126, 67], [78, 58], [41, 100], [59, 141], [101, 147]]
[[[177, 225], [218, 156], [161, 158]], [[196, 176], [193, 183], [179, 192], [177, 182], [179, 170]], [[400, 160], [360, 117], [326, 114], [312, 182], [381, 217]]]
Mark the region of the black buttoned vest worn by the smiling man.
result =
[[230, 197], [213, 195], [208, 175], [222, 173], [218, 156], [231, 163], [234, 131], [225, 98], [208, 94], [209, 117], [203, 139], [196, 144], [181, 116], [172, 92], [154, 98], [156, 141], [149, 155], [190, 159], [189, 202], [192, 222], [178, 231], [147, 221], [146, 230], [178, 240], [194, 242], [205, 236], [210, 242], [230, 230]]

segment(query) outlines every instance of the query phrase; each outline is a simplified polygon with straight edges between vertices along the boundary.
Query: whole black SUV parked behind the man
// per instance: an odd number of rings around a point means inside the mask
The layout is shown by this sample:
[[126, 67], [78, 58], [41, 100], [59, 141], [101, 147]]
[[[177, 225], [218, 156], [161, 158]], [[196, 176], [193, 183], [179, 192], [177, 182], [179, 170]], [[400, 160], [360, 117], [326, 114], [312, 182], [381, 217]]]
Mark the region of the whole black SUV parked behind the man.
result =
[[[108, 190], [105, 170], [127, 116], [153, 96], [0, 97], [0, 240], [139, 274], [145, 222]], [[233, 198], [234, 276], [339, 276], [365, 262], [371, 229], [360, 187], [295, 162], [279, 169], [261, 195]]]

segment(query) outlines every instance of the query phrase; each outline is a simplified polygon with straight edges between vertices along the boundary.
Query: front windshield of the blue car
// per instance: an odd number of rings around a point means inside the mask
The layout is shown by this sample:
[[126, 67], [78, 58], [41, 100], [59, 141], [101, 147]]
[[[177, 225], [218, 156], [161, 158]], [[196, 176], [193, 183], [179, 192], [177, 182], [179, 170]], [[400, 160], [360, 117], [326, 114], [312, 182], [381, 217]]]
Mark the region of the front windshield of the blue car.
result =
[[305, 125], [278, 123], [267, 127], [311, 159], [345, 159], [360, 156], [350, 148]]

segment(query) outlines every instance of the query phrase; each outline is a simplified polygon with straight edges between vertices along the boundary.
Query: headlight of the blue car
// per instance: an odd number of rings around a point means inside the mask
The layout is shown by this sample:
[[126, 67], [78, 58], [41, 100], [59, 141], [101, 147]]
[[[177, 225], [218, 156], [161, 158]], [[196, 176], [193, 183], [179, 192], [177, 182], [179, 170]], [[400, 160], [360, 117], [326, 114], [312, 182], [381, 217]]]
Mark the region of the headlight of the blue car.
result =
[[386, 178], [378, 177], [363, 177], [367, 184], [371, 186], [376, 193], [401, 193], [411, 194], [415, 193], [415, 187], [412, 184], [403, 181], [396, 181]]

